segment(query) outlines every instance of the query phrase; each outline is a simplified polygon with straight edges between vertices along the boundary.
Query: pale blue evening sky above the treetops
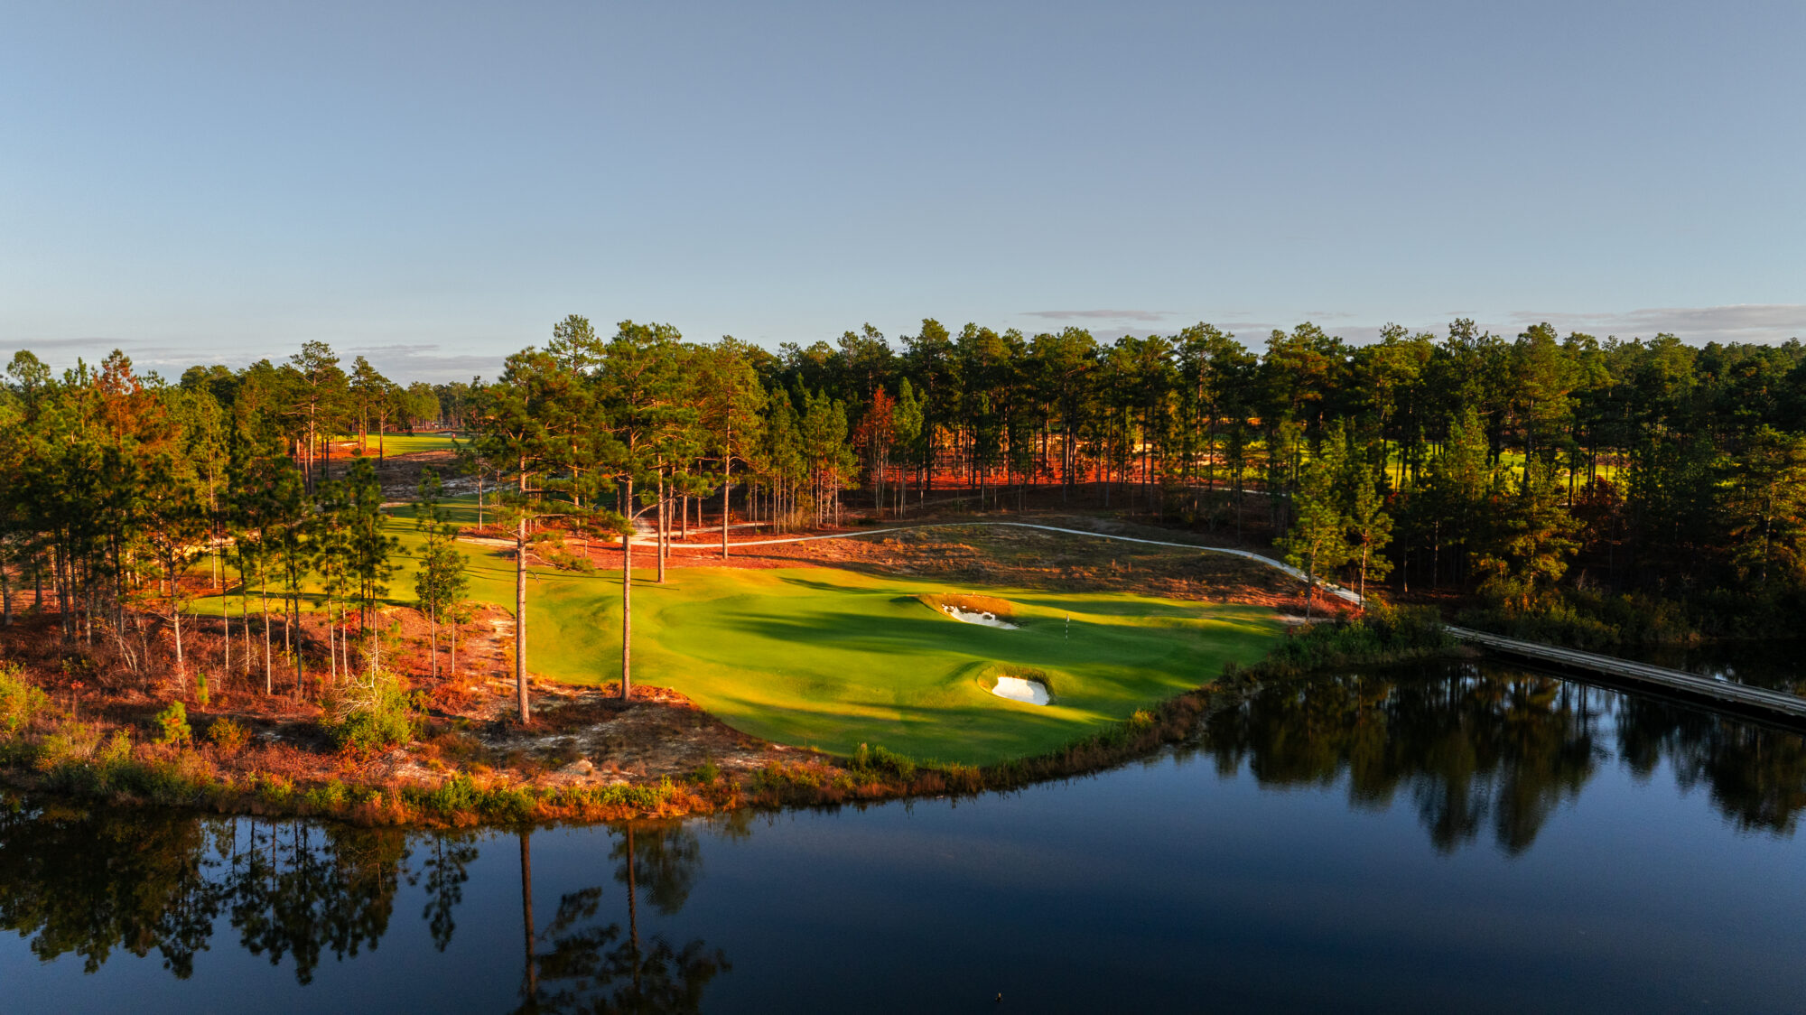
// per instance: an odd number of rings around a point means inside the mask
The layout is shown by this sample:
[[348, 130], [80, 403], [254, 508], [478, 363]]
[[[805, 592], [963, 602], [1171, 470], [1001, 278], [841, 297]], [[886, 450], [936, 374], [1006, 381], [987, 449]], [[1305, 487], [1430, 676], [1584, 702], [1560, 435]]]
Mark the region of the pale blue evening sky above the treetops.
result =
[[1806, 338], [1806, 4], [0, 0], [0, 356]]

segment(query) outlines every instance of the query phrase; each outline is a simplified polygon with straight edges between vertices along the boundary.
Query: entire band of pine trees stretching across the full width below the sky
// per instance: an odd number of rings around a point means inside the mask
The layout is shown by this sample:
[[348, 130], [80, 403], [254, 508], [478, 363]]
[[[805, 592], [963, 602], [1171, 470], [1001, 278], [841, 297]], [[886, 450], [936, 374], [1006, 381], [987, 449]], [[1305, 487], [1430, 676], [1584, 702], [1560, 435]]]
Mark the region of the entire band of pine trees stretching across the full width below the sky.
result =
[[[134, 670], [161, 632], [186, 679], [182, 576], [206, 567], [224, 589], [231, 567], [233, 665], [273, 690], [287, 661], [300, 688], [291, 623], [314, 582], [332, 618], [314, 663], [336, 675], [358, 634], [377, 650], [394, 545], [370, 457], [334, 461], [332, 437], [361, 452], [374, 435], [381, 457], [385, 435], [441, 424], [482, 526], [515, 542], [520, 618], [529, 563], [587, 565], [571, 538], [618, 536], [628, 563], [652, 542], [663, 580], [670, 538], [703, 526], [728, 554], [735, 524], [957, 502], [1275, 544], [1313, 578], [1461, 594], [1568, 639], [1786, 630], [1806, 585], [1802, 410], [1799, 341], [1504, 338], [1468, 320], [1369, 345], [1304, 323], [1259, 349], [1208, 323], [1105, 343], [923, 320], [896, 343], [865, 325], [769, 352], [569, 316], [495, 381], [439, 386], [347, 370], [325, 343], [175, 383], [119, 352], [60, 376], [18, 352], [0, 388], [0, 612], [49, 596], [65, 639]], [[417, 601], [455, 619], [461, 558], [435, 538]], [[522, 699], [526, 647], [522, 623]]]

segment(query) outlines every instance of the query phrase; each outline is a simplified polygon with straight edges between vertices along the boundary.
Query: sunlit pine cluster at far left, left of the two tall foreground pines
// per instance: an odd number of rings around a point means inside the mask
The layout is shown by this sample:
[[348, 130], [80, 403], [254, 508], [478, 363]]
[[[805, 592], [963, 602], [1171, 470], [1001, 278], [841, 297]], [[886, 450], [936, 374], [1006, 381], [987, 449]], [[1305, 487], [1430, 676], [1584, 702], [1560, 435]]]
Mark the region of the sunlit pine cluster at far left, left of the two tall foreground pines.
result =
[[[367, 367], [359, 358], [345, 374], [330, 349], [309, 343], [280, 367], [197, 367], [172, 385], [121, 352], [61, 376], [14, 354], [0, 388], [0, 623], [22, 603], [54, 603], [65, 643], [105, 647], [126, 672], [186, 688], [184, 618], [217, 592], [219, 675], [267, 694], [284, 677], [302, 695], [309, 665], [327, 684], [377, 666], [376, 610], [399, 547], [385, 533], [374, 459], [352, 453], [334, 471], [330, 453], [332, 433], [356, 421], [338, 415], [347, 406], [368, 408], [377, 441], [399, 419], [379, 397], [401, 388]], [[359, 376], [376, 377], [365, 403]], [[462, 554], [430, 511], [423, 527], [419, 603], [455, 616]], [[303, 600], [325, 614], [325, 650], [311, 659]]]

